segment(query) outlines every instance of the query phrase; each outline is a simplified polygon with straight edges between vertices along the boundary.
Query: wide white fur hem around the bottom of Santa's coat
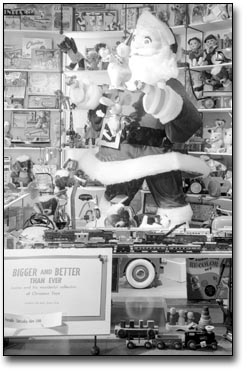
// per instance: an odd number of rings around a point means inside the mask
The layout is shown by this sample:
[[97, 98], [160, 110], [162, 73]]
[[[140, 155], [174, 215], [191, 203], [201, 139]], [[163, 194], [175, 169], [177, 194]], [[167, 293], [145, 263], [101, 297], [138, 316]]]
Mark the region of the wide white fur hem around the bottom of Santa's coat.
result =
[[171, 152], [123, 161], [102, 162], [91, 151], [79, 160], [79, 168], [104, 185], [123, 183], [170, 171], [186, 171], [207, 176], [210, 168], [198, 157]]

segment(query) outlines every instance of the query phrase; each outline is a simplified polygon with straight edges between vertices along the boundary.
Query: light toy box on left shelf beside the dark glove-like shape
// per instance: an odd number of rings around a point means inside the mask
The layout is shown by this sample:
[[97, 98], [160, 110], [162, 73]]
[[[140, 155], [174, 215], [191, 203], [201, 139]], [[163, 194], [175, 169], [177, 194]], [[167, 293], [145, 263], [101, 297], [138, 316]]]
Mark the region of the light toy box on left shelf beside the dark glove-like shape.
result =
[[60, 51], [53, 49], [32, 49], [31, 68], [34, 70], [59, 71]]

